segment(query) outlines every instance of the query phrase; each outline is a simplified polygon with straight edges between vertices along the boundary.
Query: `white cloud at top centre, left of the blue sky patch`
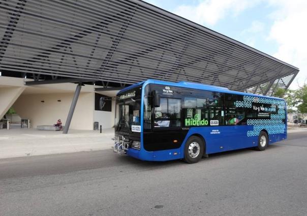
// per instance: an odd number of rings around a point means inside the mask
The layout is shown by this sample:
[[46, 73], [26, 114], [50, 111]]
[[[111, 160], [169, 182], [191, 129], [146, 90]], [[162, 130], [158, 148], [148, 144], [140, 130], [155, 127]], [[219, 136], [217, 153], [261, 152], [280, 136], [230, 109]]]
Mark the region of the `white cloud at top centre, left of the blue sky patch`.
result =
[[240, 12], [259, 2], [260, 0], [204, 0], [196, 6], [178, 6], [173, 13], [198, 24], [212, 26], [224, 17], [237, 16]]

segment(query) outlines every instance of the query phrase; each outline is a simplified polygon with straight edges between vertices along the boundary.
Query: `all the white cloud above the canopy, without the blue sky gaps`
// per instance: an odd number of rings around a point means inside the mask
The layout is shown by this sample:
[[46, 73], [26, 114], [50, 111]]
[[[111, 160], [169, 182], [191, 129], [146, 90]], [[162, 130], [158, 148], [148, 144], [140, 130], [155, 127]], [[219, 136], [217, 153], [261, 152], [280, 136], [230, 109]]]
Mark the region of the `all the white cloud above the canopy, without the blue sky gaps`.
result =
[[[300, 69], [290, 88], [303, 85], [307, 78], [307, 1], [305, 0], [200, 0], [196, 5], [181, 5], [172, 12], [201, 25], [214, 26], [227, 17], [235, 17], [246, 9], [261, 4], [269, 7], [272, 13], [267, 18], [271, 23], [253, 21], [250, 28], [241, 32], [245, 43], [254, 47], [260, 38], [273, 40], [278, 44], [274, 57]], [[267, 32], [269, 29], [269, 32]], [[268, 35], [268, 36], [267, 36]], [[257, 39], [257, 40], [256, 40]]]

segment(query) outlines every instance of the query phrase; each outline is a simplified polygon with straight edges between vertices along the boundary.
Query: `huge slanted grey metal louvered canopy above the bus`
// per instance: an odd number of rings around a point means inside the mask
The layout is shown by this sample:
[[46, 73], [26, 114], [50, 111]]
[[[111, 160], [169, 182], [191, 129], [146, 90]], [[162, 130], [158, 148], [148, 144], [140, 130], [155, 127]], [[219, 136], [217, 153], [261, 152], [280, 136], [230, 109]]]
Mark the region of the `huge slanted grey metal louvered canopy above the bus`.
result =
[[139, 0], [0, 0], [0, 70], [272, 94], [298, 68]]

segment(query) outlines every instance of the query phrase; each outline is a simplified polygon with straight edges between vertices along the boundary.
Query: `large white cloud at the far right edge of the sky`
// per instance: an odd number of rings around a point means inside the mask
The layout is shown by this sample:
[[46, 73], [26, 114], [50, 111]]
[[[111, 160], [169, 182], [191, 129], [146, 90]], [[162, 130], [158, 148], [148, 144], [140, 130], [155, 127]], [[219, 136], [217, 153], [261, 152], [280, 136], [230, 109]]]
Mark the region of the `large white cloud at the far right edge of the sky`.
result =
[[270, 15], [274, 22], [268, 38], [279, 44], [273, 56], [300, 69], [290, 86], [295, 89], [307, 78], [307, 1], [272, 0], [270, 4], [278, 8]]

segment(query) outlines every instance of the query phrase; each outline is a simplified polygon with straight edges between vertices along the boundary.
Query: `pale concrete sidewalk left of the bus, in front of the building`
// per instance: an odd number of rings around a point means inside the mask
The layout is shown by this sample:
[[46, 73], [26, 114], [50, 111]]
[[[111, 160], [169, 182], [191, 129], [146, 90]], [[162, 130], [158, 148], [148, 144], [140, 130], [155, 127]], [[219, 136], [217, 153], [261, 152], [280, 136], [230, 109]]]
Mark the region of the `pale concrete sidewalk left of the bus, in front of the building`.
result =
[[13, 128], [0, 130], [0, 159], [36, 155], [97, 151], [113, 147], [114, 128], [94, 130], [43, 131]]

